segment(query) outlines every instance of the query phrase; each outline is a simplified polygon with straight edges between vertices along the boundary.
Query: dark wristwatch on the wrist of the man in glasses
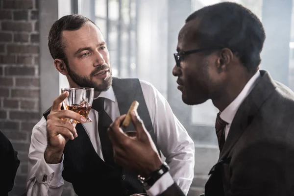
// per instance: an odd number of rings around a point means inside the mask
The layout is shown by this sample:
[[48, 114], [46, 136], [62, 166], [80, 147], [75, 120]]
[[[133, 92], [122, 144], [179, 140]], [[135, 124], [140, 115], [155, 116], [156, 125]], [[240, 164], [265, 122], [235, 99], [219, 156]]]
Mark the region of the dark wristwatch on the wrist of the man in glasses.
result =
[[170, 171], [170, 167], [164, 162], [157, 170], [152, 172], [147, 178], [138, 175], [138, 180], [145, 190], [148, 190], [163, 174]]

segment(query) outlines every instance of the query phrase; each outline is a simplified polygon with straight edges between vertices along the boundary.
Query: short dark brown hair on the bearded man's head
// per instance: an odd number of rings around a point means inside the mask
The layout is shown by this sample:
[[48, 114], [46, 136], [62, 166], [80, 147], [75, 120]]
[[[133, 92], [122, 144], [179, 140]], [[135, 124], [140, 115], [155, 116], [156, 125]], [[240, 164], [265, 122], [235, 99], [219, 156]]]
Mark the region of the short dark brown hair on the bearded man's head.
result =
[[[88, 21], [92, 22], [87, 17], [80, 14], [72, 14], [63, 16], [54, 22], [49, 30], [48, 47], [53, 59], [62, 59], [67, 63], [67, 57], [64, 52], [64, 44], [62, 43], [62, 31], [77, 30]], [[92, 22], [93, 23], [93, 22]], [[95, 25], [95, 23], [93, 23]]]

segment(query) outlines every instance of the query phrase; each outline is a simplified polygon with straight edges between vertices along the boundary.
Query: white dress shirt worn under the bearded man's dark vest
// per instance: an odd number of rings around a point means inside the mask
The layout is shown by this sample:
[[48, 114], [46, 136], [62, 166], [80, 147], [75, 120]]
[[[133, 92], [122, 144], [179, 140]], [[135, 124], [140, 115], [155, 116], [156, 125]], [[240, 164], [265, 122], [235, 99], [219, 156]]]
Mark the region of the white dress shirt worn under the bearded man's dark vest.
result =
[[[157, 145], [171, 168], [170, 176], [185, 194], [188, 193], [194, 177], [195, 147], [183, 125], [172, 113], [167, 100], [158, 90], [146, 81], [140, 81], [147, 109], [154, 128]], [[105, 98], [104, 110], [114, 121], [120, 111], [112, 87], [101, 92], [98, 97]], [[139, 105], [140, 107], [140, 105]], [[98, 112], [91, 109], [89, 117], [92, 123], [83, 123], [93, 147], [103, 160], [98, 134]], [[28, 196], [60, 196], [63, 191], [63, 162], [47, 164], [44, 151], [47, 146], [46, 120], [44, 117], [32, 131], [28, 154], [28, 177], [26, 183]], [[63, 157], [62, 157], [63, 161]], [[44, 181], [44, 174], [48, 177]], [[44, 181], [44, 182], [43, 182]], [[99, 190], [97, 190], [99, 193]]]

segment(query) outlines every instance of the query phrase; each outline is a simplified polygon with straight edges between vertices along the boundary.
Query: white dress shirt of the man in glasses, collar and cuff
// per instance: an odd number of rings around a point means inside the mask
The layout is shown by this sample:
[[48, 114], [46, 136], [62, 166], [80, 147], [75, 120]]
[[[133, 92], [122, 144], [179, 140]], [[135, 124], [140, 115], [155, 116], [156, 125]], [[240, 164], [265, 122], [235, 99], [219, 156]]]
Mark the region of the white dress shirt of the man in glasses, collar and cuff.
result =
[[[233, 122], [239, 106], [249, 95], [259, 77], [260, 73], [258, 71], [249, 79], [241, 93], [221, 112], [221, 119], [228, 123], [225, 127], [225, 139], [227, 138], [231, 123]], [[155, 184], [147, 191], [147, 193], [149, 194], [149, 196], [157, 196], [167, 190], [167, 188], [172, 186], [173, 183], [174, 181], [172, 180], [171, 174], [165, 173], [160, 179], [155, 182]]]

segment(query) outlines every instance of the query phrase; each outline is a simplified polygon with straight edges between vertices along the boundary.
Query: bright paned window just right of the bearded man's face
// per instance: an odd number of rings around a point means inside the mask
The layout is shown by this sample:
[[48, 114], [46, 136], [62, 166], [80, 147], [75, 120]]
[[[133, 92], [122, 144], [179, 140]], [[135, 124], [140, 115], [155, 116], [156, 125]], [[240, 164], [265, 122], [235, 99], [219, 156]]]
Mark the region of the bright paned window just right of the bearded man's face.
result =
[[107, 43], [113, 76], [135, 77], [137, 0], [95, 0], [94, 4], [92, 20]]

